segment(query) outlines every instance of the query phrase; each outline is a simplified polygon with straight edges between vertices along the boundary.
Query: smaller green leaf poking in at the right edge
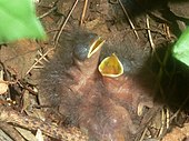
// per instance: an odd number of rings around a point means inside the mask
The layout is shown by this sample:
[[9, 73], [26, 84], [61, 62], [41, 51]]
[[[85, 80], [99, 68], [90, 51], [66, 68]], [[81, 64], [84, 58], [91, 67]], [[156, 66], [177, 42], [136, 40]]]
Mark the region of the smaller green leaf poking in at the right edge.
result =
[[189, 66], [189, 28], [180, 36], [172, 50], [173, 57]]

